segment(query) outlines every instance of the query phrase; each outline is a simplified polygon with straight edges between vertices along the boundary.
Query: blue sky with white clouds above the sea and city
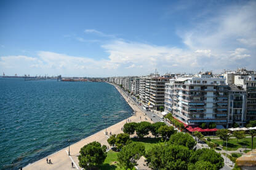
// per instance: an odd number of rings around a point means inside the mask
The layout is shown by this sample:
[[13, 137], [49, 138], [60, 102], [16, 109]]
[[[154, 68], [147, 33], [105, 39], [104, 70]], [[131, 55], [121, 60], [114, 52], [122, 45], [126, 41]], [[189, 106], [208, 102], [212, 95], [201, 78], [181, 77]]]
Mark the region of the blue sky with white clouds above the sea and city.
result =
[[256, 1], [0, 0], [0, 73], [256, 69]]

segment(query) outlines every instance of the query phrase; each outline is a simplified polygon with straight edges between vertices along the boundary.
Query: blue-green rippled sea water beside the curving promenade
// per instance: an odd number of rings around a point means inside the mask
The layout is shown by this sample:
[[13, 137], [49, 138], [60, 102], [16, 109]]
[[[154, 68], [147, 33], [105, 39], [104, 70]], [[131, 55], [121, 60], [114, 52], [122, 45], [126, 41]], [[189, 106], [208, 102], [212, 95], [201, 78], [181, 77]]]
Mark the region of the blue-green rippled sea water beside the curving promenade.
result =
[[131, 114], [108, 83], [0, 78], [0, 169], [33, 163]]

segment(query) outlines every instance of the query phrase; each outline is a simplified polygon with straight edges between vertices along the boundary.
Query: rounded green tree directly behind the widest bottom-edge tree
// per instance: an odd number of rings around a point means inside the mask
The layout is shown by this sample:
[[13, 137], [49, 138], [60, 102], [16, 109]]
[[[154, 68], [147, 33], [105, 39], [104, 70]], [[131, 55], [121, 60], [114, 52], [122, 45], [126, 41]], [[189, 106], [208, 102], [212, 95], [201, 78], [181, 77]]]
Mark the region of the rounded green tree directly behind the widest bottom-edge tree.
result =
[[193, 149], [194, 145], [196, 145], [196, 141], [187, 133], [175, 133], [170, 136], [169, 144], [183, 145], [188, 147], [188, 149]]

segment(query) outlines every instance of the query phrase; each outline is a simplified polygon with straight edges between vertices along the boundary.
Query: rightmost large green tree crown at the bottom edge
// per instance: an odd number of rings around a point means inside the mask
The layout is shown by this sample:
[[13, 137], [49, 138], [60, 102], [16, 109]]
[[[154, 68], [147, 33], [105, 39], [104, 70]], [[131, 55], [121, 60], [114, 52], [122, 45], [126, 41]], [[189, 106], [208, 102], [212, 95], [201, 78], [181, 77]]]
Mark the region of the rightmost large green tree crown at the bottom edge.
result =
[[224, 159], [220, 153], [212, 149], [199, 149], [192, 153], [190, 163], [196, 164], [198, 161], [208, 161], [214, 166], [214, 169], [220, 169], [224, 166]]

